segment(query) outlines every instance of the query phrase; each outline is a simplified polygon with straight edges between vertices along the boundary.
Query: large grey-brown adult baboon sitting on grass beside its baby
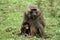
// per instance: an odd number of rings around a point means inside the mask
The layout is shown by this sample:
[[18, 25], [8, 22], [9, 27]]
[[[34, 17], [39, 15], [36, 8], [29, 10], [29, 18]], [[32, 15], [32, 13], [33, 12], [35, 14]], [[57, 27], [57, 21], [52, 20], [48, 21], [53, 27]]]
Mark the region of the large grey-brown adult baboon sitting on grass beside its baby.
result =
[[[31, 35], [39, 35], [44, 37], [44, 18], [36, 5], [29, 5], [24, 11], [23, 23], [28, 22], [30, 24]], [[22, 23], [22, 24], [23, 24]], [[23, 32], [23, 31], [22, 31]]]

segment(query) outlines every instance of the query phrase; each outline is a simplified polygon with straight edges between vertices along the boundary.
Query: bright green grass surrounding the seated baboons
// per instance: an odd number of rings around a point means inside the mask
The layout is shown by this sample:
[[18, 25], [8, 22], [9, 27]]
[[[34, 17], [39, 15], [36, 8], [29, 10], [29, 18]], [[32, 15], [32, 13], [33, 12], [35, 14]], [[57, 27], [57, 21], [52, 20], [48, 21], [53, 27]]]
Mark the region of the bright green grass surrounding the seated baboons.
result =
[[[51, 14], [49, 1], [41, 1], [41, 10], [45, 19], [45, 33], [49, 36], [46, 40], [60, 40], [60, 12], [59, 0], [54, 5], [55, 17]], [[29, 4], [36, 4], [36, 0], [0, 0], [0, 40], [43, 40], [42, 38], [28, 38], [18, 36], [23, 21], [23, 10]]]

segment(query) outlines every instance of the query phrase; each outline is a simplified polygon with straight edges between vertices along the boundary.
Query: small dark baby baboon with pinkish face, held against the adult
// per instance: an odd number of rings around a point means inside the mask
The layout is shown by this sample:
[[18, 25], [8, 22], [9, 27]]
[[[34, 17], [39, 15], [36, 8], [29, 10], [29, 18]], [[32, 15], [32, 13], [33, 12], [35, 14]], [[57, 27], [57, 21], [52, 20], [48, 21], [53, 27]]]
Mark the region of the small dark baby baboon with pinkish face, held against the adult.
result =
[[21, 33], [24, 34], [25, 36], [30, 35], [30, 25], [29, 25], [29, 23], [27, 23], [27, 22], [23, 23], [22, 28], [21, 28]]

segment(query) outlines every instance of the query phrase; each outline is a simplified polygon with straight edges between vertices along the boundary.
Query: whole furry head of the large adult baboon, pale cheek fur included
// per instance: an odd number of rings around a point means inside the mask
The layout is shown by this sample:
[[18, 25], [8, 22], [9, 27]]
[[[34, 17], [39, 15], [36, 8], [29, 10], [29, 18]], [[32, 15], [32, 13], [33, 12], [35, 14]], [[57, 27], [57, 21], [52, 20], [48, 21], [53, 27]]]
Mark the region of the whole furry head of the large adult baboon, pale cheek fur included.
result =
[[30, 19], [36, 19], [40, 15], [38, 8], [29, 8], [28, 11], [26, 10], [26, 16]]

